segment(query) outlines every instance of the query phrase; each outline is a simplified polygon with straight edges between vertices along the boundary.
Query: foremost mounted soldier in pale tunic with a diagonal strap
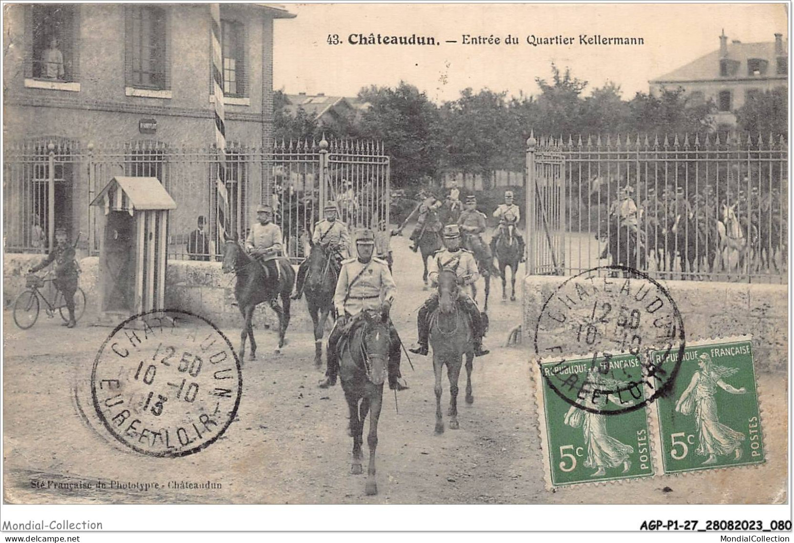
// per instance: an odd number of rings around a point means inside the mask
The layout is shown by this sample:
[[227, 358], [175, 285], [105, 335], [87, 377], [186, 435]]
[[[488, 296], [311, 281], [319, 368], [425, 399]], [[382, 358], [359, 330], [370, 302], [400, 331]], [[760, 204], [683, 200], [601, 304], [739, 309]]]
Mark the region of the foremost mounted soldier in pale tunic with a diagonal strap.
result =
[[[388, 265], [380, 258], [372, 258], [375, 249], [375, 234], [372, 230], [363, 230], [356, 240], [357, 258], [350, 258], [342, 262], [342, 269], [337, 280], [337, 290], [333, 295], [333, 305], [336, 307], [336, 324], [328, 337], [326, 356], [328, 368], [326, 379], [321, 381], [321, 388], [333, 387], [337, 383], [339, 373], [339, 356], [337, 345], [345, 332], [349, 318], [361, 311], [380, 311], [388, 314], [391, 303], [394, 302], [397, 286], [391, 278]], [[389, 323], [389, 388], [402, 391], [407, 389], [405, 383], [400, 382], [400, 344], [397, 330]]]

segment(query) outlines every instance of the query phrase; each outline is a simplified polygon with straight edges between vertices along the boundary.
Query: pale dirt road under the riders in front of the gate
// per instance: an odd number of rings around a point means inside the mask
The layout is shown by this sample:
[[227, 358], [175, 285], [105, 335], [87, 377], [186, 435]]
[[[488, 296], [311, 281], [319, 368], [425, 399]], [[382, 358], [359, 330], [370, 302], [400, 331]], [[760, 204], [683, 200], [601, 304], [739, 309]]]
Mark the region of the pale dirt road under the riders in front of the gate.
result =
[[[426, 296], [418, 256], [395, 237], [399, 301], [393, 318], [415, 338], [415, 310]], [[65, 329], [43, 318], [19, 330], [6, 312], [3, 360], [6, 500], [11, 503], [781, 503], [786, 499], [786, 382], [760, 375], [769, 461], [720, 470], [546, 491], [529, 351], [505, 348], [521, 319], [518, 302], [491, 292], [489, 356], [475, 359], [475, 402], [459, 403], [461, 429], [434, 435], [430, 357], [403, 357], [410, 390], [386, 391], [378, 446], [379, 494], [364, 495], [365, 476], [349, 475], [352, 440], [341, 387], [318, 389], [314, 345], [290, 331], [273, 356], [274, 336], [257, 330], [260, 360], [245, 363], [237, 420], [207, 449], [161, 459], [123, 448], [94, 428], [89, 406], [75, 400], [110, 329]], [[304, 302], [299, 302], [304, 303]], [[211, 319], [211, 315], [206, 315]], [[234, 345], [235, 329], [223, 329]], [[443, 401], [449, 401], [445, 382]], [[87, 413], [86, 411], [89, 410]], [[366, 449], [365, 449], [366, 454]], [[98, 488], [97, 482], [105, 487]], [[117, 482], [117, 483], [114, 483]], [[176, 485], [174, 484], [177, 483]], [[210, 488], [179, 488], [179, 482]], [[72, 483], [69, 485], [68, 483]], [[91, 488], [79, 488], [91, 485]], [[133, 483], [138, 483], [133, 484]], [[148, 483], [147, 488], [143, 483]], [[160, 485], [154, 489], [153, 483]], [[207, 485], [206, 483], [210, 483]], [[213, 485], [214, 483], [214, 485]], [[78, 486], [75, 488], [75, 486]], [[214, 486], [214, 487], [212, 487]]]

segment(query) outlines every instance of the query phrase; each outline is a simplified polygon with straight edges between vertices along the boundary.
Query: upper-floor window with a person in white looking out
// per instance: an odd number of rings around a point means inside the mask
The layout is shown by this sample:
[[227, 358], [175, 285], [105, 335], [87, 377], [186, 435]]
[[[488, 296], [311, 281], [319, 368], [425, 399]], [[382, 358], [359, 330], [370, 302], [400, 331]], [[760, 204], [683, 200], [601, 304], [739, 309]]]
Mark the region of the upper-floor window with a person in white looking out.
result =
[[79, 81], [79, 6], [25, 6], [25, 76]]

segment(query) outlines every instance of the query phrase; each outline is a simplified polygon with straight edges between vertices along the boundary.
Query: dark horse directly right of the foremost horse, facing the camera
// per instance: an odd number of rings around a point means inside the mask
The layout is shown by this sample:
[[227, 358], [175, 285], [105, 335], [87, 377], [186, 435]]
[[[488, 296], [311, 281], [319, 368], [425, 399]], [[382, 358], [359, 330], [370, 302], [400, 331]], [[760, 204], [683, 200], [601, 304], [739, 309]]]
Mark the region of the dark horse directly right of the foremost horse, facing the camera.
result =
[[457, 379], [466, 356], [466, 403], [473, 403], [472, 368], [474, 343], [472, 329], [464, 311], [457, 306], [457, 275], [450, 270], [438, 272], [438, 307], [430, 314], [430, 346], [433, 349], [433, 372], [436, 394], [436, 433], [444, 433], [441, 417], [441, 368], [446, 365], [449, 378], [449, 428], [458, 429]]

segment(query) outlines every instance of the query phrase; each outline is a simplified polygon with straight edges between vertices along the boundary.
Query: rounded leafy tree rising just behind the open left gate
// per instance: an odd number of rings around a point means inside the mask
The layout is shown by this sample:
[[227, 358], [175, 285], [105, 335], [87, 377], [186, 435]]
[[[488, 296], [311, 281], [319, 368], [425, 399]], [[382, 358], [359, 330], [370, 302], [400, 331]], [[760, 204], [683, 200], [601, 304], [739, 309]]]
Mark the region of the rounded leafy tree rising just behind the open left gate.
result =
[[441, 156], [441, 119], [437, 107], [416, 87], [401, 81], [395, 89], [365, 87], [358, 94], [369, 102], [358, 129], [361, 137], [384, 141], [391, 156], [392, 187], [418, 187], [435, 178]]

